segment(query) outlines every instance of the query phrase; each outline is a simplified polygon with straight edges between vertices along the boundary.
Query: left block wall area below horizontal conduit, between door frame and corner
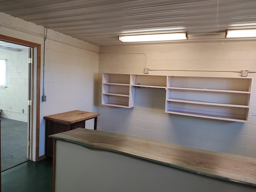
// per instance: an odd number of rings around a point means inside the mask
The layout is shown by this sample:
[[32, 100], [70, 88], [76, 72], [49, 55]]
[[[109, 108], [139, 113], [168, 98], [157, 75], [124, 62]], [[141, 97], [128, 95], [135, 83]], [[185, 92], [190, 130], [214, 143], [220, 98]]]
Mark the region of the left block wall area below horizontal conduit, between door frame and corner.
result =
[[[64, 39], [65, 41], [65, 39]], [[96, 112], [98, 84], [98, 54], [62, 44], [46, 41], [45, 94], [46, 102], [40, 106], [40, 116], [72, 110]], [[42, 87], [41, 83], [41, 87]], [[45, 135], [45, 121], [40, 124], [40, 138]], [[94, 120], [86, 121], [86, 128], [94, 128]], [[44, 141], [40, 142], [44, 154]]]

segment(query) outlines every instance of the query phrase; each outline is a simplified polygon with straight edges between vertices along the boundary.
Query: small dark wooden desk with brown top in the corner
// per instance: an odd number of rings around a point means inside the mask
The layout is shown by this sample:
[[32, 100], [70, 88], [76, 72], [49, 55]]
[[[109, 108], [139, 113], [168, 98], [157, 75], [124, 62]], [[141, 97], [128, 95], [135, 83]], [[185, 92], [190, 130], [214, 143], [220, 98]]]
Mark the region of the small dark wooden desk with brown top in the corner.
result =
[[53, 141], [49, 135], [85, 128], [85, 121], [94, 118], [94, 130], [97, 129], [97, 117], [99, 113], [74, 110], [59, 114], [44, 116], [45, 119], [45, 154], [52, 156]]

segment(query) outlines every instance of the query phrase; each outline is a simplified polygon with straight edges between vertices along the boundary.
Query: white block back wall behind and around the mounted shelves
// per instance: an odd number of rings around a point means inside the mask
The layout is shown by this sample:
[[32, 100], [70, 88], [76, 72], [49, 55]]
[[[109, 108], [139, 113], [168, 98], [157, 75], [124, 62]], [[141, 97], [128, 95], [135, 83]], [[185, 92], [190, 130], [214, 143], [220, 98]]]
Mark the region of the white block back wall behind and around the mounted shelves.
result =
[[[145, 66], [160, 69], [150, 74], [185, 76], [239, 77], [241, 70], [256, 71], [256, 42], [105, 46], [100, 52], [112, 54], [100, 55], [99, 78], [102, 72], [142, 74]], [[246, 123], [166, 114], [164, 89], [136, 89], [134, 108], [101, 106], [99, 84], [98, 129], [256, 157], [256, 74], [248, 76], [254, 83]]]

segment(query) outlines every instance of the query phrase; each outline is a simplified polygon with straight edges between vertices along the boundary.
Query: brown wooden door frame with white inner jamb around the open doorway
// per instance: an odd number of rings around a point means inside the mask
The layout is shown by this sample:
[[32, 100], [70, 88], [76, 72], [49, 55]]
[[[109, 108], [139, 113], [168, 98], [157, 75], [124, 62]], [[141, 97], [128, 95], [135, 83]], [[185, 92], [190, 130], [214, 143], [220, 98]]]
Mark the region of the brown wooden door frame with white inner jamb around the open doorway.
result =
[[[30, 63], [30, 80], [28, 80], [28, 126], [30, 131], [28, 132], [29, 141], [28, 146], [28, 158], [32, 161], [38, 161], [39, 158], [39, 124], [40, 124], [40, 60], [41, 60], [41, 45], [21, 40], [9, 36], [0, 34], [0, 40], [9, 42], [12, 44], [18, 44], [31, 48], [29, 54], [31, 54]], [[28, 70], [29, 71], [29, 70]]]

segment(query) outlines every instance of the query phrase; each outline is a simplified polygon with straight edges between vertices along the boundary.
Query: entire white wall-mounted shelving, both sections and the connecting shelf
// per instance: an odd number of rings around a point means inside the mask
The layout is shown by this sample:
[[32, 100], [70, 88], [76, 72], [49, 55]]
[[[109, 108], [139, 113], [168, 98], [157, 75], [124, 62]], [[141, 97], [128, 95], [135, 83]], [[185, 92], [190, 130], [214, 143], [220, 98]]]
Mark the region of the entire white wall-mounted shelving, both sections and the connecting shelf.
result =
[[134, 107], [136, 87], [166, 89], [166, 113], [248, 120], [252, 78], [104, 73], [102, 105]]

